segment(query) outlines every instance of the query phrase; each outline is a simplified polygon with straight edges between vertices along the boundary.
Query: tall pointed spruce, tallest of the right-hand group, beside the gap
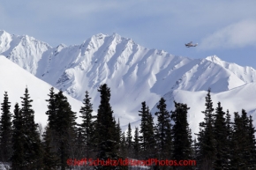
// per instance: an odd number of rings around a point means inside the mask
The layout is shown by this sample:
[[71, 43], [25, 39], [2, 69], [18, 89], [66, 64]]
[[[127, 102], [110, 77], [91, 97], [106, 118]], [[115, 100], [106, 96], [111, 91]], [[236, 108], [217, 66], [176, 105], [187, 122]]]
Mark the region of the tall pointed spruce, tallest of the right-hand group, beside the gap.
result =
[[206, 110], [202, 111], [205, 115], [204, 122], [200, 122], [200, 132], [198, 135], [198, 164], [200, 169], [212, 169], [215, 161], [215, 137], [214, 137], [214, 117], [213, 102], [210, 89], [206, 96]]

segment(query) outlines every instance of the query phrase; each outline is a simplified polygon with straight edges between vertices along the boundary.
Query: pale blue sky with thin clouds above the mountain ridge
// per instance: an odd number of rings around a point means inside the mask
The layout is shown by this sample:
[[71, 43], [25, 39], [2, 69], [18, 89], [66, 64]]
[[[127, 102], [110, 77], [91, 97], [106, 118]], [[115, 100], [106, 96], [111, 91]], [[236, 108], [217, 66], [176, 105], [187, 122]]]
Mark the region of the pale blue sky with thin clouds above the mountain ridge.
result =
[[[52, 47], [118, 33], [172, 55], [217, 55], [256, 69], [255, 8], [255, 0], [0, 0], [0, 30]], [[189, 41], [199, 46], [185, 48]]]

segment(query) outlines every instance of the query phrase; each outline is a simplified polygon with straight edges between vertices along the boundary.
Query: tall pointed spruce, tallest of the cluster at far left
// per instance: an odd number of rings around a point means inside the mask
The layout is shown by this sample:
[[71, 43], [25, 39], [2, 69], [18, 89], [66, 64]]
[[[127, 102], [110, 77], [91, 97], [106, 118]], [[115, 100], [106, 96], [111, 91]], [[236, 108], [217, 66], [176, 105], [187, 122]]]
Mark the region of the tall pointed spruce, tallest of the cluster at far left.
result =
[[38, 124], [34, 122], [34, 110], [27, 88], [24, 97], [20, 97], [22, 123], [24, 127], [24, 151], [26, 169], [40, 169], [42, 166], [42, 151], [40, 134], [37, 131]]

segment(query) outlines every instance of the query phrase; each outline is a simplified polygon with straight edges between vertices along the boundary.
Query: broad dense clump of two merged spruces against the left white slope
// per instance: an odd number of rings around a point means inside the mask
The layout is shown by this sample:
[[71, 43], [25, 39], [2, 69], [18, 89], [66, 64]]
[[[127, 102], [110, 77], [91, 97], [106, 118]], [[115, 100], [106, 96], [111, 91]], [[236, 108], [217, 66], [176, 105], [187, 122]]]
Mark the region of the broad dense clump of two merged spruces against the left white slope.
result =
[[72, 112], [72, 107], [62, 91], [55, 93], [50, 88], [48, 111], [49, 126], [44, 134], [44, 153], [51, 155], [54, 162], [44, 158], [44, 162], [49, 162], [64, 170], [67, 167], [67, 159], [75, 159], [76, 149], [76, 113]]

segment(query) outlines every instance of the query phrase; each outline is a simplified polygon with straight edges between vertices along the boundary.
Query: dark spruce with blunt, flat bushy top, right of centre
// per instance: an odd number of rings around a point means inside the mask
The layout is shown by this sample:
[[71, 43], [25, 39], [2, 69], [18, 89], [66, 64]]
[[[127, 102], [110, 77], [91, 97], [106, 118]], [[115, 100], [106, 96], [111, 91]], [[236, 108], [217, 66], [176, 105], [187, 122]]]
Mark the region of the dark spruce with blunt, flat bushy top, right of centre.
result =
[[[183, 103], [175, 103], [175, 111], [171, 111], [173, 120], [173, 158], [177, 160], [192, 159], [192, 136], [187, 122], [189, 107]], [[187, 167], [191, 169], [191, 167]]]

